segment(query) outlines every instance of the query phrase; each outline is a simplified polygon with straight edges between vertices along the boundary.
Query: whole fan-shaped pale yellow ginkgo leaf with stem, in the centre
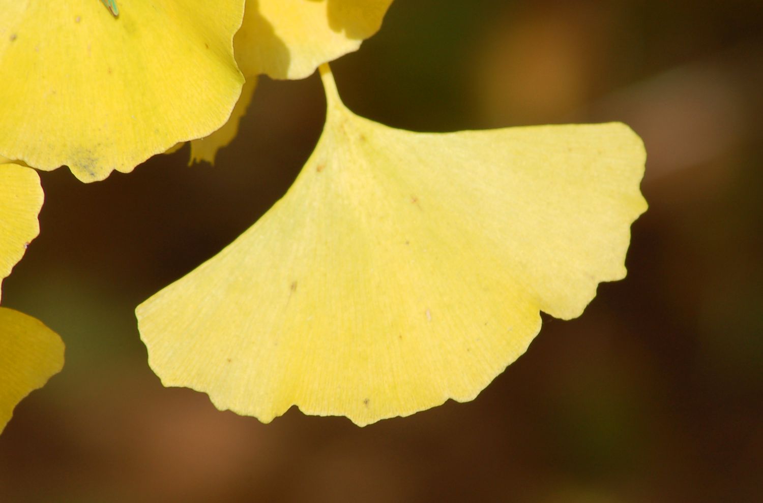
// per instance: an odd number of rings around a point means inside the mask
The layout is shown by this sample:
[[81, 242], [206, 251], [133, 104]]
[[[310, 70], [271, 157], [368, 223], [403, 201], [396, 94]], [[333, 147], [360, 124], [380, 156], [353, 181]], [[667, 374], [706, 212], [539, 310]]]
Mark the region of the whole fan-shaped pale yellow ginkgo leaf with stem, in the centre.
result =
[[322, 72], [326, 127], [285, 197], [137, 308], [166, 386], [262, 421], [410, 415], [474, 399], [540, 310], [578, 316], [625, 276], [646, 208], [628, 127], [411, 133], [348, 111]]

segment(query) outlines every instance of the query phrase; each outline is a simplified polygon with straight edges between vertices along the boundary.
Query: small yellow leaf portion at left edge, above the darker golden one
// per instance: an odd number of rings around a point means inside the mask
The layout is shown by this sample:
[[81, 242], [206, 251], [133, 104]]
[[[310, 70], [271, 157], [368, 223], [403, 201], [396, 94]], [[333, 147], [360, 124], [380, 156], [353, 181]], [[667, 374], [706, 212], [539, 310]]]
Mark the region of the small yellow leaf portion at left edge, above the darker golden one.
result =
[[43, 198], [37, 171], [0, 164], [0, 284], [40, 233], [37, 215]]

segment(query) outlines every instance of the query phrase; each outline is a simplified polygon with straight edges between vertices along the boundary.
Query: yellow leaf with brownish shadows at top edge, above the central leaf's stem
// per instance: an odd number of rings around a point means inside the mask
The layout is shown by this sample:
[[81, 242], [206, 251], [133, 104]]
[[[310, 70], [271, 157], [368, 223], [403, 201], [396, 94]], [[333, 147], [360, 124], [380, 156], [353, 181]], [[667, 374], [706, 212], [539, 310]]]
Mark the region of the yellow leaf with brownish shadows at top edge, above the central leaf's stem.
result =
[[304, 78], [358, 50], [381, 27], [392, 0], [249, 0], [237, 34], [244, 72]]

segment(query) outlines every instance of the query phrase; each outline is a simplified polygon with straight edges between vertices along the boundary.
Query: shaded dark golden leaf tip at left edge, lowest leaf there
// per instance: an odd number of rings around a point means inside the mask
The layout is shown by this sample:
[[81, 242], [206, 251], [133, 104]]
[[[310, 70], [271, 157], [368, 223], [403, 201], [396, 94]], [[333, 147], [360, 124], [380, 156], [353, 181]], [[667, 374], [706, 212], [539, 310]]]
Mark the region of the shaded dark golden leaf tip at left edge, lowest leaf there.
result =
[[63, 341], [37, 319], [0, 307], [0, 433], [13, 409], [63, 368]]

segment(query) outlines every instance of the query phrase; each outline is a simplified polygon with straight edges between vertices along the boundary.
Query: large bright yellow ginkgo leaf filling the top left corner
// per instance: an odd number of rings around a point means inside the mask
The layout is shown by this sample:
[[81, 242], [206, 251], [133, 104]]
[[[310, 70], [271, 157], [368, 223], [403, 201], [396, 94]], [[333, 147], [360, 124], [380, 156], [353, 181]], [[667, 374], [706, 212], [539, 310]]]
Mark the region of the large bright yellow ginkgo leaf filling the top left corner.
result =
[[243, 4], [0, 0], [0, 155], [95, 181], [221, 127]]

